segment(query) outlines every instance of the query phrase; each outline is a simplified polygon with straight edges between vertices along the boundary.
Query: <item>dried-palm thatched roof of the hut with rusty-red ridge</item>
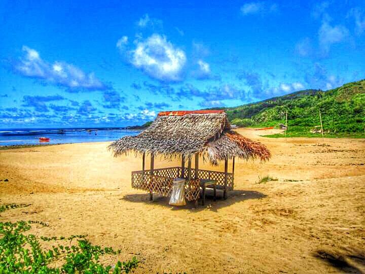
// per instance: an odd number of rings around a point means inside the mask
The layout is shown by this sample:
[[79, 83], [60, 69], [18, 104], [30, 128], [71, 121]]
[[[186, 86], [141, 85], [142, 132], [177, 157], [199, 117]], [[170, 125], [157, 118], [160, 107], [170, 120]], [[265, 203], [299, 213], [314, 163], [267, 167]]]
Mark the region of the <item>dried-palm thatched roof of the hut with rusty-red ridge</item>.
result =
[[230, 127], [224, 111], [160, 112], [150, 127], [136, 136], [113, 142], [109, 149], [114, 156], [134, 151], [170, 159], [201, 153], [213, 165], [232, 157], [263, 161], [270, 158], [265, 145], [231, 131]]

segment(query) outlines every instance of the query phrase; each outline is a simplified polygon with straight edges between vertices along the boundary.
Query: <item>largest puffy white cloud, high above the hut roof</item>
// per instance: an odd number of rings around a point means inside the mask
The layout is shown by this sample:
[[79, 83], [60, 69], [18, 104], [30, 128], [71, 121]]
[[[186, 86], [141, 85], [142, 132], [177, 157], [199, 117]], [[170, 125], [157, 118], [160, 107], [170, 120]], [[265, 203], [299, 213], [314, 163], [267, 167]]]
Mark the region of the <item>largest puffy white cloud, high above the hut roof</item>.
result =
[[150, 77], [167, 82], [182, 80], [186, 54], [166, 37], [155, 33], [147, 40], [137, 42], [135, 50], [130, 53], [130, 62]]

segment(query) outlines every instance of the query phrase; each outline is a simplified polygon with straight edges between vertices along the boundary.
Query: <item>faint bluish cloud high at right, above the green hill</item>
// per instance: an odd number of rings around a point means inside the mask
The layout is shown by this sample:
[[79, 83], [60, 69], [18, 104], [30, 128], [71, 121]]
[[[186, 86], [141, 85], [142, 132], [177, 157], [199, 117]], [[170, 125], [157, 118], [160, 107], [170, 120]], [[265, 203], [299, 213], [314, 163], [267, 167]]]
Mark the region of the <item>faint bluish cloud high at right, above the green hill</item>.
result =
[[330, 52], [331, 46], [342, 42], [348, 37], [349, 31], [342, 25], [332, 26], [329, 20], [324, 19], [318, 30], [319, 46], [324, 55]]

